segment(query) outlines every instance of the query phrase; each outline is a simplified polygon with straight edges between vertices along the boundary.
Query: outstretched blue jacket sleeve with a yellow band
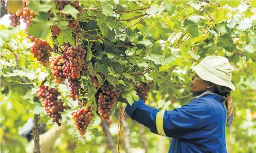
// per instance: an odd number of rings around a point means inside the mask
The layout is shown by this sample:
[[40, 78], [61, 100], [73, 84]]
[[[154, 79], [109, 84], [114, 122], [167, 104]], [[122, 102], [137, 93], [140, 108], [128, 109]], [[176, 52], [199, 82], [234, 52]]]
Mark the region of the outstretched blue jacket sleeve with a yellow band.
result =
[[132, 106], [128, 104], [125, 111], [133, 120], [148, 127], [153, 133], [172, 138], [191, 138], [191, 131], [196, 131], [210, 122], [210, 106], [201, 102], [194, 100], [172, 111], [159, 111], [139, 99]]

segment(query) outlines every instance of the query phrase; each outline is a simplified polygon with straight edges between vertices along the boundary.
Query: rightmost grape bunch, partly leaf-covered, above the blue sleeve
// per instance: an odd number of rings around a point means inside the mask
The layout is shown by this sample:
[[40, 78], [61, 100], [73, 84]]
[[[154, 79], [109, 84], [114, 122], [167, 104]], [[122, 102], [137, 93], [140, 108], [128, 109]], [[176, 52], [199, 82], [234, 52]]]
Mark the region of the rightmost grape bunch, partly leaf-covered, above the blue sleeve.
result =
[[140, 99], [144, 101], [144, 103], [148, 98], [147, 92], [152, 88], [152, 83], [153, 81], [149, 83], [140, 82], [138, 85], [134, 87], [134, 90], [137, 92], [137, 95], [139, 96]]

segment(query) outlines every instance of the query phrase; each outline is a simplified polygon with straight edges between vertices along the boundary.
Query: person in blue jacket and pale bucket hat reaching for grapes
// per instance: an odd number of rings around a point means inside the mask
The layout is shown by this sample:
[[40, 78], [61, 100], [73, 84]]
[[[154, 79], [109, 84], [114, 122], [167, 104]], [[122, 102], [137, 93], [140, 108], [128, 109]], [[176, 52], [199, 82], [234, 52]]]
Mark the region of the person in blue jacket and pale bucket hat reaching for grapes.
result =
[[229, 127], [233, 121], [230, 93], [235, 91], [231, 82], [234, 68], [225, 57], [208, 56], [192, 70], [196, 73], [190, 82], [194, 100], [181, 108], [159, 111], [141, 99], [132, 106], [124, 99], [121, 102], [127, 104], [125, 112], [133, 120], [153, 133], [173, 138], [169, 152], [225, 153], [225, 124]]

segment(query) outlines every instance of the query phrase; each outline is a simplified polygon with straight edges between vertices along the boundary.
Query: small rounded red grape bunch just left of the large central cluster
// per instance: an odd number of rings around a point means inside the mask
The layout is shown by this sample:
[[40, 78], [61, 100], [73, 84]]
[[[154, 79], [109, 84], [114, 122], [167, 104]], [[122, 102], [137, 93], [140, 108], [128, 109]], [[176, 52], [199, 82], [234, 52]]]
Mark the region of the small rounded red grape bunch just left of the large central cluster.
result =
[[52, 47], [45, 40], [35, 42], [31, 47], [31, 52], [34, 54], [34, 58], [40, 62], [43, 66], [49, 65], [49, 57], [53, 52]]

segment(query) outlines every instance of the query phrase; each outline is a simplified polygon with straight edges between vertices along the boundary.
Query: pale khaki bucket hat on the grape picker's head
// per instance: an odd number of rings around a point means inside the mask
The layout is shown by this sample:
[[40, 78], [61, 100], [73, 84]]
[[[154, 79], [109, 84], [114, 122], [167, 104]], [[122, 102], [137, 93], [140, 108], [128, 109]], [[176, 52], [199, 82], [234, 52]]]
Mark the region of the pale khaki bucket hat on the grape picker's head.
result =
[[200, 78], [235, 91], [231, 82], [234, 67], [222, 56], [207, 56], [199, 64], [191, 68]]

